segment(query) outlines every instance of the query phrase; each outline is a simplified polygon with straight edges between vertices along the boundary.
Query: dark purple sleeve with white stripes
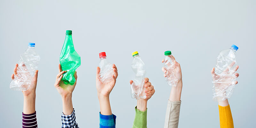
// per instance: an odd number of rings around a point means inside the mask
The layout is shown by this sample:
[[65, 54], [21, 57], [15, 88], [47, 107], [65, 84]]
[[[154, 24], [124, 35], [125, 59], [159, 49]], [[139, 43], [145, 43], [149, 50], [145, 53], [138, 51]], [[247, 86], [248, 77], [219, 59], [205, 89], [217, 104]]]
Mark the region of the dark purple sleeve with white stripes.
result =
[[37, 128], [36, 112], [32, 114], [22, 113], [22, 128]]

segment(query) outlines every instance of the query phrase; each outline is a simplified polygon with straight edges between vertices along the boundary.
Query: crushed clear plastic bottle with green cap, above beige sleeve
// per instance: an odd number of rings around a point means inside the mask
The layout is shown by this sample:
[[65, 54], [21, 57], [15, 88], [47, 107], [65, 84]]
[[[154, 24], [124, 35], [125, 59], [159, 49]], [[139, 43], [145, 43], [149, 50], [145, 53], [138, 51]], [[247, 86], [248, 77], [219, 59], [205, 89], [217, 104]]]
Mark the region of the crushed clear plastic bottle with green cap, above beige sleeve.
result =
[[167, 84], [169, 84], [170, 86], [176, 87], [176, 85], [178, 84], [178, 78], [174, 75], [175, 63], [172, 57], [172, 52], [165, 51], [164, 55], [164, 69], [166, 70], [165, 80], [167, 81]]

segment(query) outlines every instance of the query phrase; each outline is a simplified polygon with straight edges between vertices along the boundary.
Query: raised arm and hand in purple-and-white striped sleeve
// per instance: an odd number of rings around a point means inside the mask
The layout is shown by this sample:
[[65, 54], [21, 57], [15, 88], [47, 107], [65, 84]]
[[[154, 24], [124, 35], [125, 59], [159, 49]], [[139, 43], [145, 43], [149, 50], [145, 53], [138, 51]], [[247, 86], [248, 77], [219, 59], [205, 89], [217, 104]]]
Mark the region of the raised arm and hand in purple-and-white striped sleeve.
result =
[[[17, 75], [18, 64], [15, 65], [14, 74], [11, 78]], [[36, 121], [36, 84], [37, 84], [38, 70], [36, 70], [35, 76], [27, 91], [22, 91], [24, 103], [22, 113], [22, 128], [37, 128]]]

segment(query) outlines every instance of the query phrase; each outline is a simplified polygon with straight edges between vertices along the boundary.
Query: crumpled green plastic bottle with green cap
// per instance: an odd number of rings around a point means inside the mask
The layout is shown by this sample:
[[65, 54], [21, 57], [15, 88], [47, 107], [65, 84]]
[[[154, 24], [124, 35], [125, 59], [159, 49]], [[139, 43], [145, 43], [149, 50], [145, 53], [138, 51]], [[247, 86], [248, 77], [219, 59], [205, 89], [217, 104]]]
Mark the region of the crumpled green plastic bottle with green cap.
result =
[[71, 30], [66, 31], [65, 42], [60, 53], [60, 65], [63, 71], [67, 70], [61, 80], [64, 84], [73, 85], [76, 82], [74, 73], [81, 65], [81, 57], [75, 51]]

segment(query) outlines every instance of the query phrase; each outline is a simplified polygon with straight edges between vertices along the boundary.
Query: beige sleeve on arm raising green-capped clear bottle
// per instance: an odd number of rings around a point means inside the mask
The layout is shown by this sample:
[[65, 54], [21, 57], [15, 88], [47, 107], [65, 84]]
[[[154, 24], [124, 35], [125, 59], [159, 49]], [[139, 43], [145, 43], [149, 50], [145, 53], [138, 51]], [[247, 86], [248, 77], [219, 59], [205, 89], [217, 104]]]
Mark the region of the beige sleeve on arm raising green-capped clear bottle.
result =
[[178, 128], [181, 101], [168, 100], [164, 128]]

